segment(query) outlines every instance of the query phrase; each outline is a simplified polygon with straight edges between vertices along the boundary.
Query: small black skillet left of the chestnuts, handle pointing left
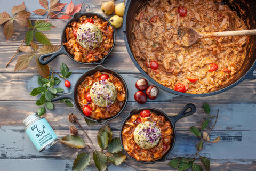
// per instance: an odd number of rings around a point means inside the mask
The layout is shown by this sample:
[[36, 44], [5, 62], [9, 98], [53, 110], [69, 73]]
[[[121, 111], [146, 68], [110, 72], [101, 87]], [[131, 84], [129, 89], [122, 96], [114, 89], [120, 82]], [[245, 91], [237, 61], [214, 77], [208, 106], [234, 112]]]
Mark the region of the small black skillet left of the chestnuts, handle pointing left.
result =
[[[116, 78], [118, 78], [120, 80], [120, 82], [122, 83], [122, 85], [124, 87], [124, 92], [125, 92], [125, 100], [124, 100], [124, 103], [123, 103], [120, 111], [116, 115], [114, 115], [110, 118], [106, 118], [106, 119], [95, 119], [95, 118], [91, 118], [90, 116], [85, 116], [83, 114], [83, 109], [81, 108], [81, 106], [78, 103], [78, 92], [77, 92], [78, 86], [82, 84], [82, 82], [85, 80], [85, 77], [91, 76], [97, 71], [107, 72], [109, 74], [113, 74]], [[104, 123], [106, 123], [106, 121], [109, 121], [109, 120], [114, 119], [115, 117], [117, 117], [124, 110], [125, 105], [127, 103], [127, 99], [128, 99], [128, 88], [127, 88], [126, 83], [124, 82], [123, 77], [121, 77], [121, 75], [119, 75], [114, 70], [111, 70], [111, 69], [108, 69], [108, 68], [105, 68], [105, 67], [99, 65], [99, 66], [96, 66], [93, 69], [90, 69], [90, 70], [84, 72], [84, 74], [77, 80], [77, 82], [74, 86], [74, 89], [70, 93], [58, 93], [57, 95], [58, 95], [58, 97], [53, 98], [52, 102], [60, 100], [60, 99], [71, 99], [71, 100], [73, 100], [76, 109], [81, 113], [81, 115], [83, 117], [85, 117], [87, 119], [90, 119], [92, 121], [96, 121], [98, 124], [104, 124]]]

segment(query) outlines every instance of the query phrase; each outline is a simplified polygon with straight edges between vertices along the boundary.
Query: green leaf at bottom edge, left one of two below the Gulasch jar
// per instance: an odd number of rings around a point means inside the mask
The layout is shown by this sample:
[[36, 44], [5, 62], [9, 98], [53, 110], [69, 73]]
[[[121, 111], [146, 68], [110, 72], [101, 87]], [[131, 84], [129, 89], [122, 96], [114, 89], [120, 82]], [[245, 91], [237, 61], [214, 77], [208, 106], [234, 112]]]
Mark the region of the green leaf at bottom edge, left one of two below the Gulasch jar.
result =
[[77, 158], [75, 159], [72, 170], [73, 171], [81, 171], [86, 169], [87, 166], [90, 165], [90, 153], [89, 152], [83, 152], [81, 154], [77, 155]]

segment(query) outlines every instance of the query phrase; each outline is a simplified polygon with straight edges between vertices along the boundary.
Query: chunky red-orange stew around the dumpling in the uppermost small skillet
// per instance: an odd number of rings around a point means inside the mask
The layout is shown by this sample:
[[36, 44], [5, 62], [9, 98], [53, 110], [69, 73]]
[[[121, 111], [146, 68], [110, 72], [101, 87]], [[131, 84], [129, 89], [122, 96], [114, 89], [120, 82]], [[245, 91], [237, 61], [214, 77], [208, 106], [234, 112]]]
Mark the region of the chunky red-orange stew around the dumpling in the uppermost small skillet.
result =
[[[85, 23], [86, 20], [91, 19], [94, 25], [98, 26], [102, 32], [103, 40], [99, 47], [86, 50], [77, 42], [76, 30]], [[108, 22], [104, 22], [96, 15], [91, 18], [87, 18], [83, 15], [79, 18], [79, 21], [72, 22], [71, 27], [66, 29], [67, 42], [63, 43], [66, 46], [68, 52], [74, 56], [74, 59], [78, 62], [92, 63], [105, 58], [113, 46], [113, 28], [108, 26]]]

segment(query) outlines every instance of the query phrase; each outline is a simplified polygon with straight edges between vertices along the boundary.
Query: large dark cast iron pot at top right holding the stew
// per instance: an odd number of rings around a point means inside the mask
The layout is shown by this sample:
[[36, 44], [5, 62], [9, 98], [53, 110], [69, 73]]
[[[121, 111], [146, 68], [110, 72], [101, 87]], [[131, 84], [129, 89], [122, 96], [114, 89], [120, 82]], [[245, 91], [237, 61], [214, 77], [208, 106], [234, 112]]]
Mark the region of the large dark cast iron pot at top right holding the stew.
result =
[[[139, 71], [145, 76], [151, 83], [155, 84], [159, 88], [163, 89], [166, 92], [182, 95], [182, 96], [189, 96], [189, 97], [203, 97], [203, 96], [210, 96], [219, 94], [222, 92], [227, 91], [228, 89], [236, 86], [237, 84], [241, 83], [245, 79], [256, 79], [256, 76], [253, 75], [253, 71], [256, 68], [256, 36], [250, 36], [249, 44], [250, 46], [247, 47], [246, 50], [246, 59], [241, 68], [241, 70], [235, 75], [233, 80], [229, 83], [223, 85], [219, 89], [214, 92], [204, 93], [204, 94], [189, 94], [189, 93], [181, 93], [174, 91], [168, 87], [163, 86], [162, 84], [157, 83], [153, 78], [149, 77], [147, 73], [139, 66], [135, 56], [132, 52], [131, 46], [131, 39], [132, 39], [132, 28], [133, 28], [133, 19], [135, 15], [140, 12], [141, 7], [145, 5], [147, 0], [128, 0], [124, 12], [124, 21], [123, 21], [123, 32], [124, 32], [124, 41], [127, 48], [127, 51], [135, 64], [135, 66], [139, 69]], [[245, 21], [247, 27], [249, 29], [256, 29], [256, 1], [255, 0], [223, 0], [223, 4], [226, 4], [230, 7], [231, 10], [237, 12], [238, 17], [242, 17]]]

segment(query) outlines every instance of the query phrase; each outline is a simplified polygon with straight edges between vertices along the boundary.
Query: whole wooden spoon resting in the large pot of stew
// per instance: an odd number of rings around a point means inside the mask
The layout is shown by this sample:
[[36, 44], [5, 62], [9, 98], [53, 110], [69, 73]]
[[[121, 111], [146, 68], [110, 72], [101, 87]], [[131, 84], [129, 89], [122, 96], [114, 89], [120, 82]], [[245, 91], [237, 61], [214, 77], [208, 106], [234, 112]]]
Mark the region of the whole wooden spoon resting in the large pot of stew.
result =
[[223, 32], [204, 32], [199, 34], [191, 27], [180, 27], [178, 29], [178, 37], [181, 39], [183, 46], [191, 46], [202, 37], [224, 37], [224, 36], [242, 36], [256, 35], [256, 30], [239, 30], [239, 31], [223, 31]]

